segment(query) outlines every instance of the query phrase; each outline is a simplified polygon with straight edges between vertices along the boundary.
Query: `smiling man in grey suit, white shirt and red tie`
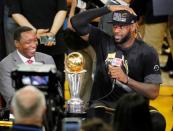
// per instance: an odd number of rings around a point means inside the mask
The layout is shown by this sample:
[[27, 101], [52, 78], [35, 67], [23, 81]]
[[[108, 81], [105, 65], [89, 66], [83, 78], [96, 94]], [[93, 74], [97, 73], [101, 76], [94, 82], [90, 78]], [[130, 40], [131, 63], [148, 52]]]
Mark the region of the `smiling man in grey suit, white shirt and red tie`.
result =
[[14, 32], [16, 50], [10, 53], [0, 62], [0, 94], [8, 104], [15, 92], [12, 87], [11, 71], [18, 64], [32, 64], [41, 62], [43, 64], [55, 64], [51, 56], [36, 52], [37, 37], [32, 28], [19, 27]]

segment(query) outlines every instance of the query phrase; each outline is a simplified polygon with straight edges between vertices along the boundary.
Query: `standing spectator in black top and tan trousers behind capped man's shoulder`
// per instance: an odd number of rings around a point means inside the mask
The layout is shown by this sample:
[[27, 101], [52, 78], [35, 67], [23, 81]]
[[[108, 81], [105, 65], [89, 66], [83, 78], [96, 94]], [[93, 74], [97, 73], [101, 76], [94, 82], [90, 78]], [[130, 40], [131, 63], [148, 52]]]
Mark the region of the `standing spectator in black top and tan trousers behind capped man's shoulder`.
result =
[[153, 13], [153, 2], [147, 0], [145, 4], [144, 14], [144, 41], [149, 45], [153, 46], [159, 54], [161, 54], [161, 46], [165, 35], [167, 36], [169, 31], [168, 28], [168, 16], [155, 16]]

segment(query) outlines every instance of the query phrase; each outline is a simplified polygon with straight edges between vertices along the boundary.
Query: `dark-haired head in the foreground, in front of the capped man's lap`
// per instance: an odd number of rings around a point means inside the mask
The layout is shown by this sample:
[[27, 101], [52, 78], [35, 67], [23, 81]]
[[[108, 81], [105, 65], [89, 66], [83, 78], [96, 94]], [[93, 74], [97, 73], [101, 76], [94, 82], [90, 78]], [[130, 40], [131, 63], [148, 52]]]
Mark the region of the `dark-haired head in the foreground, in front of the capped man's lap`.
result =
[[115, 131], [152, 131], [149, 101], [137, 93], [122, 96], [117, 102], [113, 126]]

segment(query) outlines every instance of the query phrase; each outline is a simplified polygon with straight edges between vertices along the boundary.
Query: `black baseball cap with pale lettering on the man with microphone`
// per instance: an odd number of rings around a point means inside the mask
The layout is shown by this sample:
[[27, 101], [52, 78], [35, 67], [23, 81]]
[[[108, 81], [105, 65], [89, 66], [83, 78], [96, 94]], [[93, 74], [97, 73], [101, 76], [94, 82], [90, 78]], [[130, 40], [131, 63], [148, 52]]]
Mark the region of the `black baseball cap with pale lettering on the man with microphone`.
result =
[[118, 10], [112, 13], [112, 21], [108, 23], [113, 25], [130, 25], [137, 21], [137, 16], [127, 10]]

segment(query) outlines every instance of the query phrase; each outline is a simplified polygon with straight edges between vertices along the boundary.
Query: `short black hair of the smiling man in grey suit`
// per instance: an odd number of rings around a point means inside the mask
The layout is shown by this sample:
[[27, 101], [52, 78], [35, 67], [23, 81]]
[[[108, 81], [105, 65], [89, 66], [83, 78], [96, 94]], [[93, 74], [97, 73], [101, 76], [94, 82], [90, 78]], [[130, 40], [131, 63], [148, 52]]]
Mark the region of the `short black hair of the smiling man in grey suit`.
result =
[[33, 30], [32, 28], [28, 27], [28, 26], [21, 26], [18, 27], [15, 31], [14, 31], [14, 40], [19, 41], [21, 39], [21, 33], [23, 32], [27, 32], [27, 31], [31, 31]]

